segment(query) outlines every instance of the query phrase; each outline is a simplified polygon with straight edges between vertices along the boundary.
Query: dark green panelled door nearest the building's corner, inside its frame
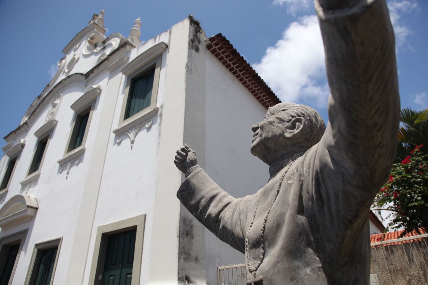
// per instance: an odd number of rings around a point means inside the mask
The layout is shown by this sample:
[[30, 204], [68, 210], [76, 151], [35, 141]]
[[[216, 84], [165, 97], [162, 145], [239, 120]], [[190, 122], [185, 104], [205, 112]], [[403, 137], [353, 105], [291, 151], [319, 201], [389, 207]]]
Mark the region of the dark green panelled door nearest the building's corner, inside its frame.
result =
[[131, 285], [136, 229], [110, 235], [102, 285]]

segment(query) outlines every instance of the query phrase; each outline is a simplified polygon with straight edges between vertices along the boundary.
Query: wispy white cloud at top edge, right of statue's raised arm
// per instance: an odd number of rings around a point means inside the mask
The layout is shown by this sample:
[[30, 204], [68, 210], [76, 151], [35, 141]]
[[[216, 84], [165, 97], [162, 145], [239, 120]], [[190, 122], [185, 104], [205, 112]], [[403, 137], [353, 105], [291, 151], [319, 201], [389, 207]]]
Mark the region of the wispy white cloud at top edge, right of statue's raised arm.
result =
[[419, 9], [416, 0], [392, 0], [388, 2], [389, 17], [391, 18], [392, 26], [395, 32], [395, 43], [397, 51], [400, 51], [405, 44], [407, 44], [407, 37], [412, 34], [409, 26], [403, 24], [401, 15], [403, 13], [409, 14]]

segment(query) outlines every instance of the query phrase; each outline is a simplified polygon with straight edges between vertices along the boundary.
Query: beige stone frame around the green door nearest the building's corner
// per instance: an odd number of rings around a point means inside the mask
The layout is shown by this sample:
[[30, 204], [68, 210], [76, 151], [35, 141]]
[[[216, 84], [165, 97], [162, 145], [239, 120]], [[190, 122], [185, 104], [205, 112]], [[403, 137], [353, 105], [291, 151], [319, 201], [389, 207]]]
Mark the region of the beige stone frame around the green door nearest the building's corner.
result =
[[126, 232], [131, 229], [137, 229], [135, 236], [134, 263], [132, 265], [131, 285], [140, 284], [141, 263], [143, 258], [143, 240], [146, 214], [98, 226], [95, 238], [94, 254], [92, 256], [91, 271], [89, 273], [89, 284], [101, 285], [99, 278], [104, 273], [104, 262], [109, 235], [119, 232]]

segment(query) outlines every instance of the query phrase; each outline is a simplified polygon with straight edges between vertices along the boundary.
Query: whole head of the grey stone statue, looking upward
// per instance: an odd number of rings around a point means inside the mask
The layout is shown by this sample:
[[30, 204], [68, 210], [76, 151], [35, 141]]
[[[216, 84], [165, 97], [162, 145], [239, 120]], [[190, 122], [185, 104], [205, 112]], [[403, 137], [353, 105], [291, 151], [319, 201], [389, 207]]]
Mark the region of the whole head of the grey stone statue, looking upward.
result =
[[279, 103], [268, 108], [265, 119], [251, 127], [251, 153], [270, 165], [276, 159], [307, 150], [321, 140], [325, 123], [306, 105]]

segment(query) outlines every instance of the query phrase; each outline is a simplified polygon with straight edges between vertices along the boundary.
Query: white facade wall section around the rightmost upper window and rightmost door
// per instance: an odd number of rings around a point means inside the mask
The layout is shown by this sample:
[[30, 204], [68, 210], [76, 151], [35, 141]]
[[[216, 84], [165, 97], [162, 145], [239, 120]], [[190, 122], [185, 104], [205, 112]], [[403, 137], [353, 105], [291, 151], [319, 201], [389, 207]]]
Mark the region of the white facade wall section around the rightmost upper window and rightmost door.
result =
[[[165, 42], [169, 44], [169, 32], [166, 31], [152, 38], [139, 47], [131, 50], [131, 62], [141, 53], [155, 44]], [[160, 116], [162, 114], [163, 97], [165, 92], [167, 51], [162, 55], [160, 67], [159, 88], [156, 106], [160, 108], [158, 114], [152, 118], [153, 124], [149, 129], [143, 127], [137, 134], [131, 150], [130, 139], [124, 137], [120, 144], [113, 129], [119, 126], [119, 119], [124, 102], [126, 76], [119, 73], [121, 83], [117, 94], [113, 125], [108, 142], [104, 170], [102, 173], [100, 191], [96, 203], [95, 218], [92, 227], [91, 241], [86, 260], [83, 284], [89, 282], [90, 267], [95, 251], [95, 236], [98, 226], [146, 214], [146, 225], [143, 246], [143, 261], [140, 284], [147, 284], [149, 275], [149, 259], [151, 248], [152, 221], [155, 204], [156, 176], [158, 149], [160, 140]]]

